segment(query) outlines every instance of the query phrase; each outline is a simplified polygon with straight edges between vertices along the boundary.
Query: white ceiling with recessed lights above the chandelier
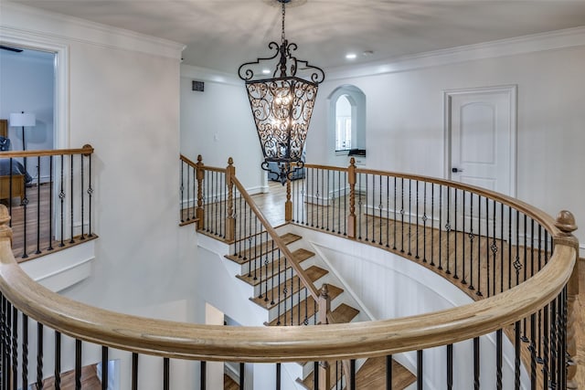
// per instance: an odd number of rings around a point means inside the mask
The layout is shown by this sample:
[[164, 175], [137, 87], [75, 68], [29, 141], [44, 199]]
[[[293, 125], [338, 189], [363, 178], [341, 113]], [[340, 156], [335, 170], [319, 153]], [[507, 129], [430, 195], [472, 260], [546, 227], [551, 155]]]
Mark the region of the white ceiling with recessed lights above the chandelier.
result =
[[[270, 2], [273, 4], [269, 4]], [[294, 0], [293, 0], [294, 1]], [[297, 0], [286, 37], [331, 69], [585, 26], [585, 0]], [[276, 0], [18, 0], [186, 45], [184, 63], [235, 74], [281, 37]], [[365, 51], [373, 51], [363, 56]], [[358, 57], [346, 60], [348, 52]]]

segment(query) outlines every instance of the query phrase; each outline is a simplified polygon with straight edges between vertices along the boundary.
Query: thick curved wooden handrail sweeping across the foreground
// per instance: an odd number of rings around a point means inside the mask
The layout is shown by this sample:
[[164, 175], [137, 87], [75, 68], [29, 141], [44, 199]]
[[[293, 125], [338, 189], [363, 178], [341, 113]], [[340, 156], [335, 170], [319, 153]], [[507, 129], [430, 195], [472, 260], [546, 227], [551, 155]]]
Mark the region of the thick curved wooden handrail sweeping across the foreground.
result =
[[548, 264], [522, 285], [465, 306], [396, 320], [328, 326], [226, 327], [161, 321], [106, 311], [62, 297], [30, 279], [10, 249], [0, 206], [0, 290], [18, 310], [91, 343], [171, 358], [305, 362], [388, 355], [458, 343], [519, 321], [555, 299], [577, 252], [559, 241]]

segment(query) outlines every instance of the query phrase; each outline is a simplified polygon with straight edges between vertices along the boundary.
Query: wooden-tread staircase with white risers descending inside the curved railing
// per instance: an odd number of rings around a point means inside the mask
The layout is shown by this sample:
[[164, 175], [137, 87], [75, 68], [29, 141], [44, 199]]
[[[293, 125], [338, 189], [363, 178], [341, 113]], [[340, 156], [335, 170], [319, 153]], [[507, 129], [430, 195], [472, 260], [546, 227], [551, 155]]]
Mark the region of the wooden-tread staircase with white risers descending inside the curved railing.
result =
[[[317, 289], [324, 283], [327, 284], [335, 323], [357, 321], [359, 310], [346, 303], [347, 297], [344, 296], [344, 290], [334, 284], [335, 278], [329, 275], [329, 270], [322, 268], [322, 264], [317, 264], [314, 252], [302, 248], [302, 237], [286, 233], [281, 238]], [[245, 238], [244, 241], [251, 242], [250, 237]], [[238, 243], [235, 248], [239, 248]], [[228, 255], [226, 258], [239, 265], [239, 275], [236, 275], [236, 278], [253, 288], [253, 296], [250, 300], [266, 310], [265, 325], [317, 324], [315, 315], [317, 304], [314, 298], [304, 289], [299, 277], [294, 275], [290, 262], [279, 256], [279, 251], [272, 241], [247, 248], [241, 253]], [[336, 378], [341, 376], [341, 362], [331, 362], [330, 366], [331, 384], [335, 386]], [[358, 361], [356, 366], [357, 389], [378, 389], [385, 386], [386, 358]], [[293, 370], [289, 371], [291, 374], [295, 372], [298, 375], [297, 383], [300, 387], [313, 389], [314, 364], [294, 364]], [[392, 388], [404, 389], [414, 382], [416, 382], [415, 376], [394, 361]]]

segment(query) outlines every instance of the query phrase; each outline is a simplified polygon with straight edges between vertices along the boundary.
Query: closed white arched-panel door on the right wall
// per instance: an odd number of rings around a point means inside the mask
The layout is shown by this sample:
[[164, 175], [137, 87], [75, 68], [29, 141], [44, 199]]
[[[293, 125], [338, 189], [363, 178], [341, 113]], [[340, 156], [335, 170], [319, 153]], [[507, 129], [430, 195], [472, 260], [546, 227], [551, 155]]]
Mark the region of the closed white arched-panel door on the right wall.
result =
[[[516, 86], [449, 90], [444, 96], [446, 176], [516, 195]], [[459, 209], [458, 230], [492, 230], [494, 207], [485, 198], [460, 194], [452, 207]]]

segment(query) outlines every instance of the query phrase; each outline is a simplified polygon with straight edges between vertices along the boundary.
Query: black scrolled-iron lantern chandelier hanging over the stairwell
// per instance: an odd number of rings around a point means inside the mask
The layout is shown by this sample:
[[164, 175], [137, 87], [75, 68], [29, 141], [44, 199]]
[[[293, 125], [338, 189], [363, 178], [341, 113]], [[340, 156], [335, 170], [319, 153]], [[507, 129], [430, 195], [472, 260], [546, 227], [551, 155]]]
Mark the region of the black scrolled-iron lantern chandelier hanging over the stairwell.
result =
[[[317, 96], [318, 85], [323, 82], [323, 69], [297, 59], [293, 52], [295, 43], [289, 43], [284, 34], [286, 4], [292, 0], [274, 0], [282, 5], [281, 44], [272, 41], [268, 47], [274, 50], [269, 58], [242, 64], [238, 69], [239, 78], [246, 82], [250, 108], [260, 139], [264, 162], [263, 170], [278, 175], [282, 184], [291, 178], [293, 170], [303, 169], [303, 150], [309, 130], [309, 122]], [[280, 56], [280, 57], [279, 57]], [[256, 79], [264, 75], [262, 64], [273, 65], [271, 79]], [[305, 78], [297, 74], [305, 75]], [[264, 76], [265, 77], [265, 76]]]

